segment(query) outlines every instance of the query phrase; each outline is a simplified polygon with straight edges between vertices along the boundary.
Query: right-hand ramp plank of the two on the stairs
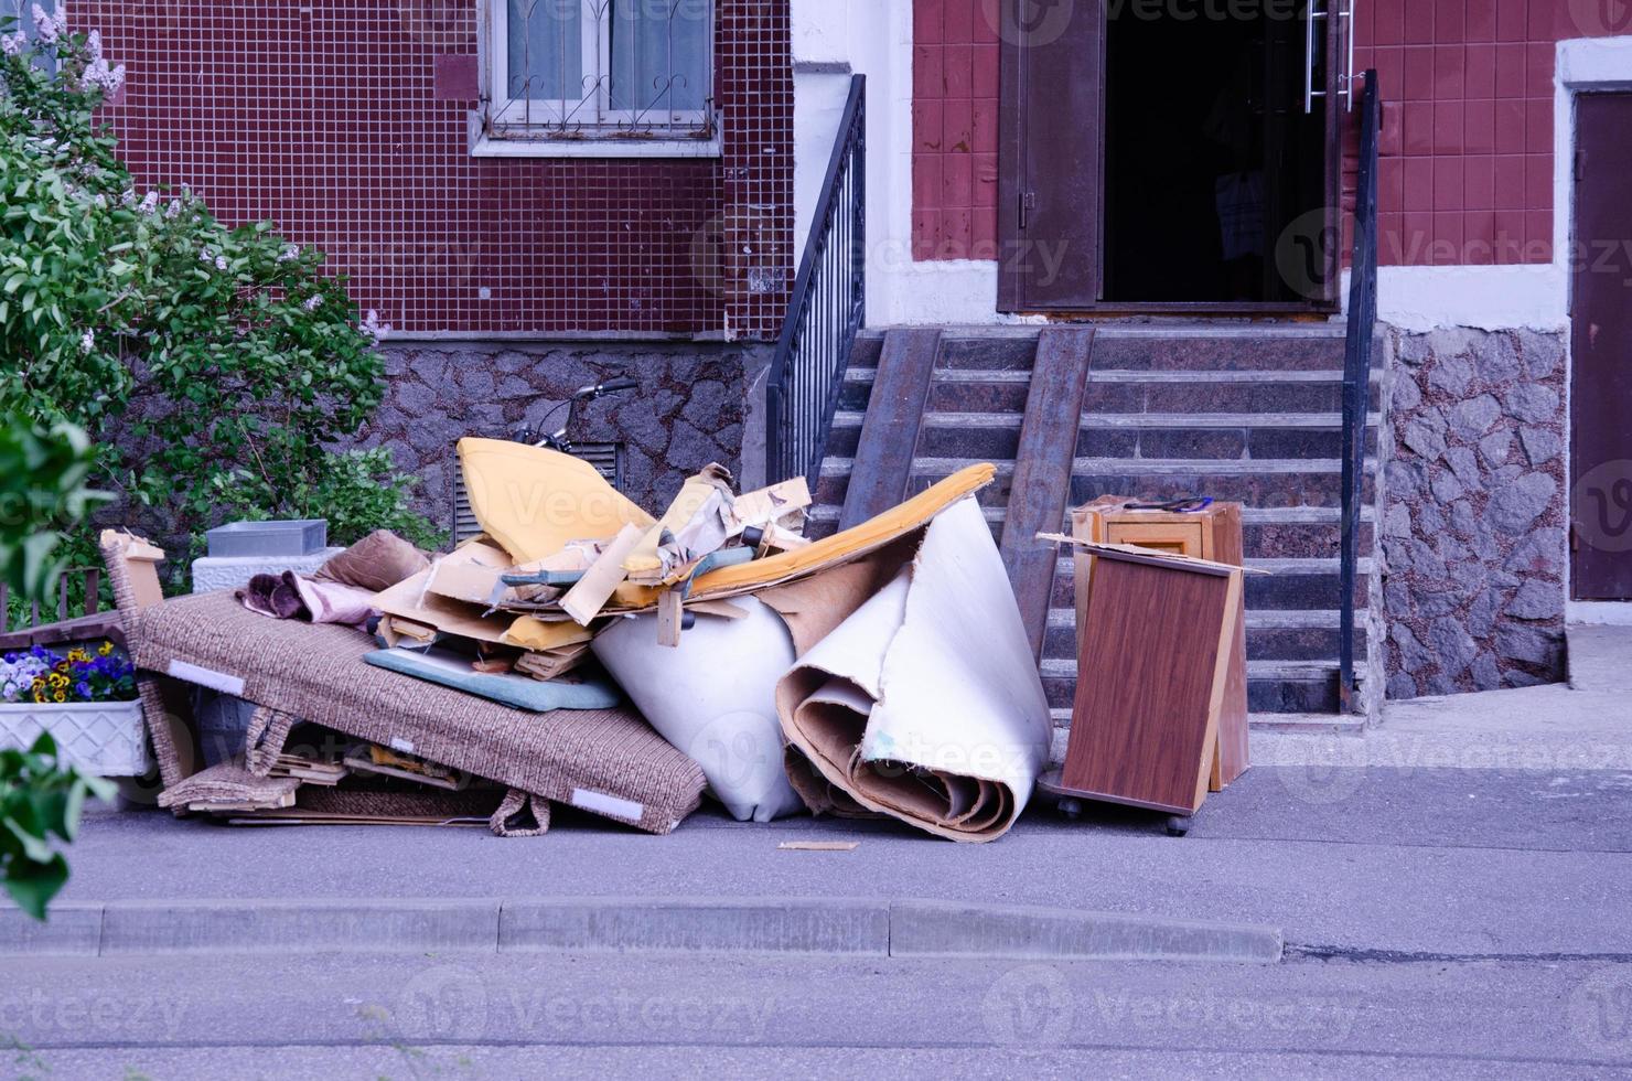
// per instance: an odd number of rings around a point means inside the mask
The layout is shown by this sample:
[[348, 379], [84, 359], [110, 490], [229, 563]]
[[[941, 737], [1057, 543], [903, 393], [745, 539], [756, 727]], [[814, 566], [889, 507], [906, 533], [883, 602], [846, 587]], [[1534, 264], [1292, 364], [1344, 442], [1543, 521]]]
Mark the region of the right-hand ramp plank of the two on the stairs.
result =
[[1002, 550], [1035, 656], [1043, 656], [1058, 558], [1053, 549], [1036, 542], [1036, 534], [1056, 532], [1066, 521], [1092, 351], [1092, 327], [1043, 330], [1020, 423]]

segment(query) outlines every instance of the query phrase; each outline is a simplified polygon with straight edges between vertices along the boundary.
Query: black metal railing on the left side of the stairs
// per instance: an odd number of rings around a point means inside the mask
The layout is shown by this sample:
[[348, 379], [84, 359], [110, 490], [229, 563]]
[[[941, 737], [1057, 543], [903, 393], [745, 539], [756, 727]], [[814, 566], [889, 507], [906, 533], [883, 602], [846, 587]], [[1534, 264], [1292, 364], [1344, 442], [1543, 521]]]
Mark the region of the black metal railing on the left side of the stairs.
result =
[[850, 78], [821, 201], [765, 380], [765, 480], [816, 487], [867, 323], [867, 77]]

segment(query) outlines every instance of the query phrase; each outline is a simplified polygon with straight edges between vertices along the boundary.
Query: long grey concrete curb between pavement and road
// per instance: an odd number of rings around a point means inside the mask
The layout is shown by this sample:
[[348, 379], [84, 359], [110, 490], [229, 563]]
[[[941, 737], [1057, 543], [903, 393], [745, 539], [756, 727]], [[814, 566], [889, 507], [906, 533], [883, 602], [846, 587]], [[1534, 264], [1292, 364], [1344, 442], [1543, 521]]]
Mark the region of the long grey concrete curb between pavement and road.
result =
[[0, 955], [623, 952], [1273, 963], [1275, 928], [854, 898], [227, 900], [0, 910]]

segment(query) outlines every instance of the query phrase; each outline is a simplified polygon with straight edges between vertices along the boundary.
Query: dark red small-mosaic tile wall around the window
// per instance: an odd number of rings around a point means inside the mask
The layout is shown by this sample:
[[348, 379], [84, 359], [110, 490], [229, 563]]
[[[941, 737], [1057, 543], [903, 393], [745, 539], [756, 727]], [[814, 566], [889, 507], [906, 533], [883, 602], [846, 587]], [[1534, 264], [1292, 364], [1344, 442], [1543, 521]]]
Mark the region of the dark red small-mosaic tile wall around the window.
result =
[[[716, 0], [718, 160], [473, 158], [475, 0], [73, 0], [153, 185], [271, 219], [398, 330], [774, 338], [792, 284], [785, 3]], [[486, 297], [483, 297], [486, 289]]]

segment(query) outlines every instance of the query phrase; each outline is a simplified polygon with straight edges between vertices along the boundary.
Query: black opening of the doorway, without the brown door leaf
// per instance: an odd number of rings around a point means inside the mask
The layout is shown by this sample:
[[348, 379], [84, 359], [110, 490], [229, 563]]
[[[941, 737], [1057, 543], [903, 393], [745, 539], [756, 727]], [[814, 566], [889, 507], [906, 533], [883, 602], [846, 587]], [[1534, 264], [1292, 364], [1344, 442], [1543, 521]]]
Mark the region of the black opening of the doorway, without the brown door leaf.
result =
[[[1279, 266], [1325, 206], [1325, 109], [1306, 111], [1304, 23], [1138, 18], [1105, 49], [1106, 302], [1296, 302]], [[1245, 8], [1245, 5], [1242, 5]], [[1257, 8], [1257, 5], [1253, 5]], [[1283, 11], [1284, 5], [1263, 5]], [[1301, 269], [1301, 268], [1297, 268]], [[1293, 278], [1301, 278], [1293, 274]]]

